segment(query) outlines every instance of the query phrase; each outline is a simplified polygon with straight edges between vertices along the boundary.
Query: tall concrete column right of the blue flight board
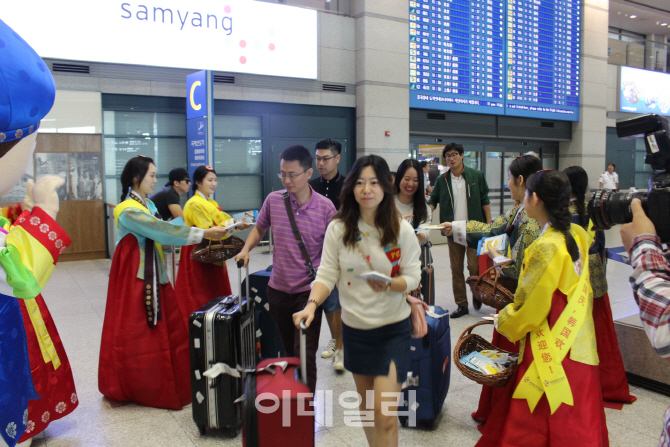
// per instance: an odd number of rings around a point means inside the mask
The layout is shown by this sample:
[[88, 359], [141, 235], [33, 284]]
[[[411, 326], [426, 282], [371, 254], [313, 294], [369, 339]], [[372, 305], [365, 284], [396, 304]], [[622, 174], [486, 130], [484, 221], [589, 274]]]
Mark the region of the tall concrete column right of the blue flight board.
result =
[[591, 188], [598, 187], [606, 165], [608, 23], [609, 0], [583, 1], [580, 119], [572, 141], [559, 145], [559, 169], [583, 167]]

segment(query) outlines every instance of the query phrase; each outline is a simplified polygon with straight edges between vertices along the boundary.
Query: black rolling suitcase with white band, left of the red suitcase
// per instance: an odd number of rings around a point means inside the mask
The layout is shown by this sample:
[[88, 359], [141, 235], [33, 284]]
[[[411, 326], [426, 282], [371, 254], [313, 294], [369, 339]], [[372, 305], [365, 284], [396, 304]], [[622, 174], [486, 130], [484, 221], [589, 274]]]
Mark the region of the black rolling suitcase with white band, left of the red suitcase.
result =
[[[242, 426], [244, 394], [241, 371], [256, 367], [254, 303], [249, 296], [249, 267], [246, 296], [214, 298], [191, 314], [191, 395], [193, 420], [201, 434], [219, 429], [231, 437]], [[242, 283], [242, 269], [238, 269]]]

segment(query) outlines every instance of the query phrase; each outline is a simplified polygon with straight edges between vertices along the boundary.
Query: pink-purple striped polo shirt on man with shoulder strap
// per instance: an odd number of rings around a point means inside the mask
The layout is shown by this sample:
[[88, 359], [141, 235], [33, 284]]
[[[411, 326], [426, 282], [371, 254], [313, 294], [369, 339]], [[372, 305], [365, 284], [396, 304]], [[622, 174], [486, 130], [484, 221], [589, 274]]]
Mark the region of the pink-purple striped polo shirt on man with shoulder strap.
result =
[[[311, 186], [309, 188], [312, 189]], [[274, 248], [270, 287], [284, 293], [300, 293], [309, 290], [313, 278], [309, 274], [307, 263], [302, 258], [298, 243], [295, 241], [283, 195], [282, 190], [271, 192], [267, 196], [258, 213], [256, 225], [261, 230], [272, 229]], [[314, 268], [318, 268], [321, 264], [321, 251], [326, 229], [335, 215], [335, 207], [330, 199], [313, 189], [312, 197], [302, 206], [299, 206], [293, 194], [289, 194], [289, 197], [307, 253]]]

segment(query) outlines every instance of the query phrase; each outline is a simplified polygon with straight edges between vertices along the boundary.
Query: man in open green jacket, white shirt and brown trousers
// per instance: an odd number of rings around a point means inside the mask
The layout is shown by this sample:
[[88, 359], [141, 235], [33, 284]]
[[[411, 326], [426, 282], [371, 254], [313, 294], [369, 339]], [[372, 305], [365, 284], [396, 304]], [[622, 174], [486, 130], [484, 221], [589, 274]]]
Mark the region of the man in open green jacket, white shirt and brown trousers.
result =
[[[446, 160], [449, 171], [437, 178], [428, 200], [428, 205], [432, 210], [438, 204], [440, 205], [440, 222], [461, 220], [491, 222], [489, 186], [484, 173], [463, 164], [464, 150], [460, 144], [447, 144], [442, 150], [442, 156]], [[451, 280], [454, 301], [458, 305], [458, 309], [451, 314], [451, 318], [460, 318], [470, 313], [463, 275], [463, 261], [467, 253], [468, 271], [471, 276], [478, 275], [477, 250], [454, 242], [453, 236], [448, 233], [447, 229], [442, 232], [449, 238]], [[482, 303], [479, 300], [473, 300], [473, 305], [475, 309], [479, 309]]]

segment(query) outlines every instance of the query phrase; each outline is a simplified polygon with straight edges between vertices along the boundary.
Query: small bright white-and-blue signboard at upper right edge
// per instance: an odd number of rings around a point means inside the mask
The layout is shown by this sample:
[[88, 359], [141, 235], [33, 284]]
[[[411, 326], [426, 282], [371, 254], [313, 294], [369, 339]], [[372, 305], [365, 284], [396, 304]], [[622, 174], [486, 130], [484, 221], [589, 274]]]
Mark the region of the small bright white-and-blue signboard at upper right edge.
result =
[[621, 67], [619, 111], [670, 116], [670, 74]]

